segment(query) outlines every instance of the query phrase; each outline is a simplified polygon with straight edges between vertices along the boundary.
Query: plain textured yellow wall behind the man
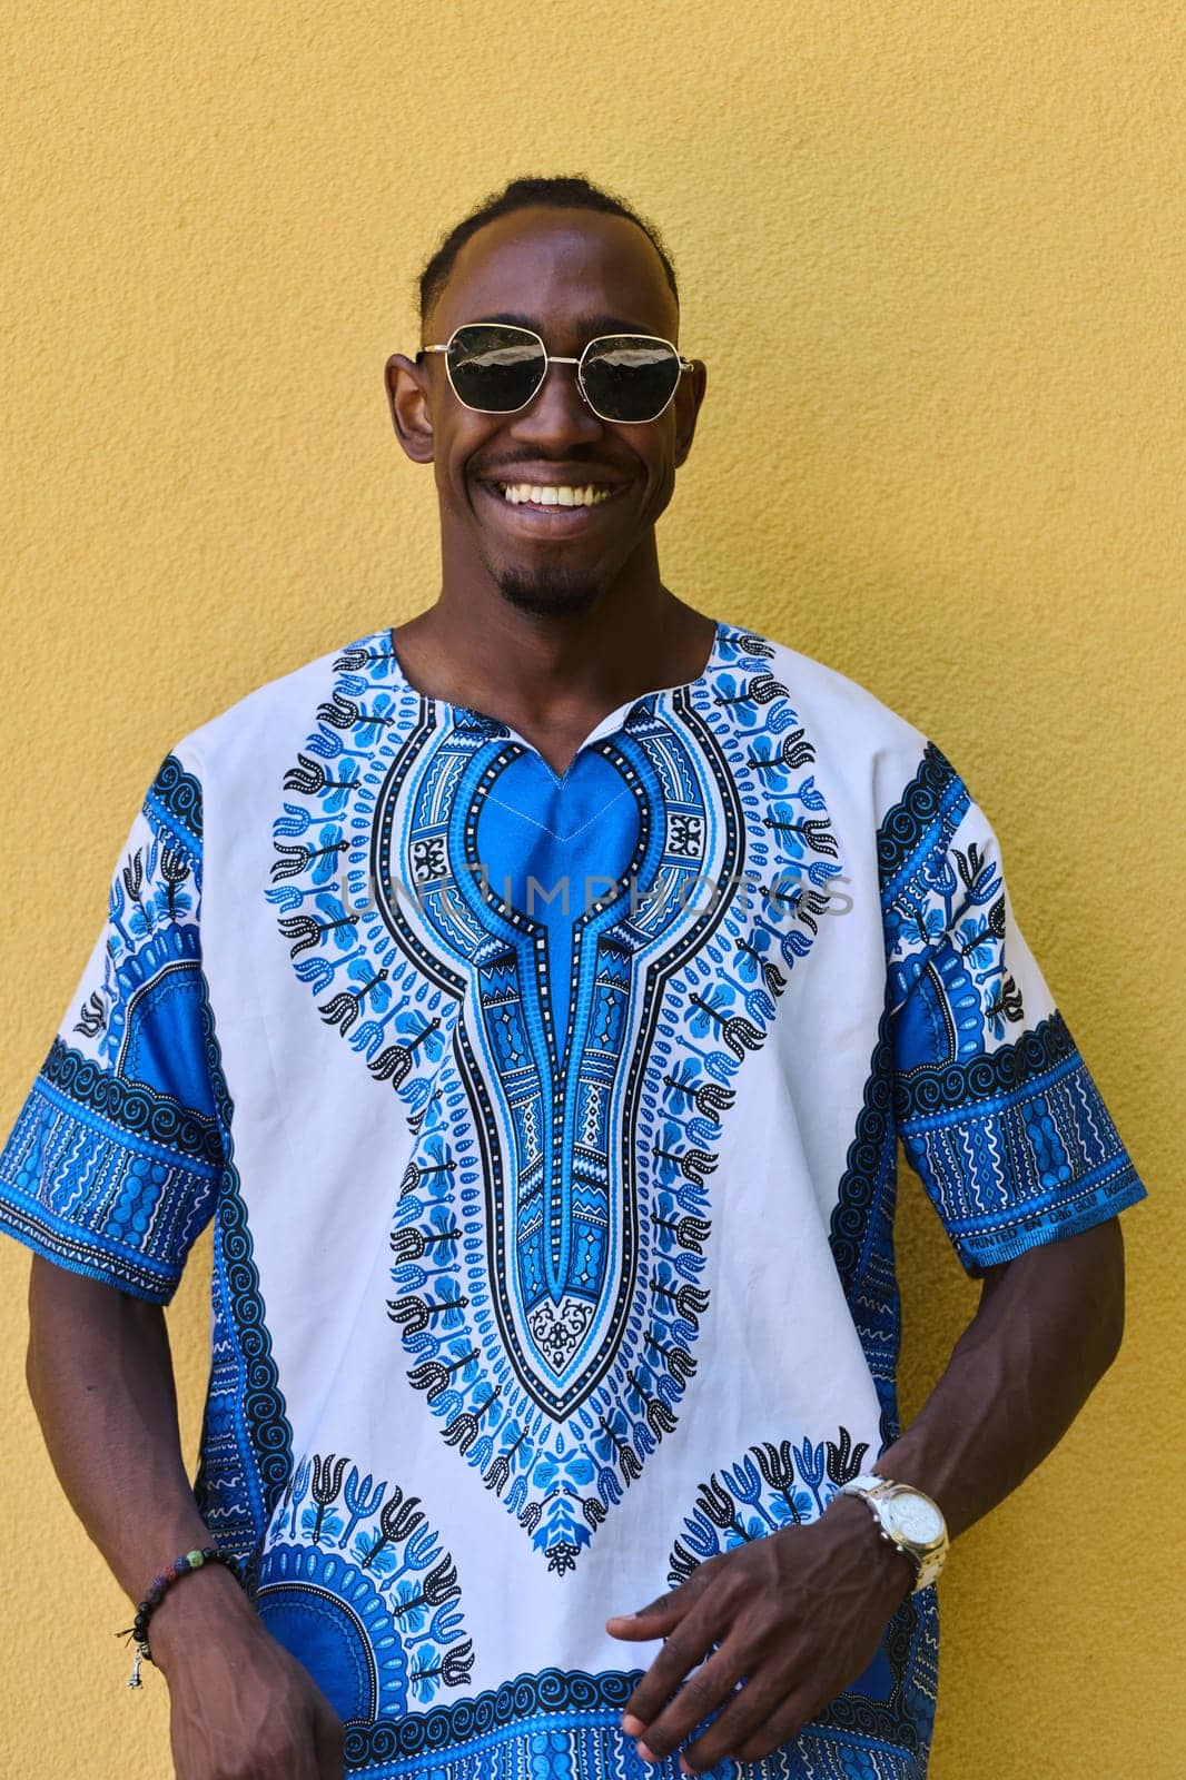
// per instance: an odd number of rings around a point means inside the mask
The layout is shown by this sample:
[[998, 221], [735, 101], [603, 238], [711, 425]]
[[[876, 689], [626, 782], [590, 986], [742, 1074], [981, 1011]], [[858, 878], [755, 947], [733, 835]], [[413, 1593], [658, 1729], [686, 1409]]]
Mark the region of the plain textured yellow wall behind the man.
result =
[[[1186, 1771], [1184, 53], [1174, 0], [87, 0], [25, 7], [7, 64], [5, 1132], [164, 749], [433, 600], [381, 367], [516, 173], [621, 189], [677, 256], [709, 395], [668, 584], [871, 687], [997, 826], [1150, 1200], [1120, 1360], [956, 1545], [933, 1780]], [[914, 1410], [976, 1290], [903, 1198]], [[164, 1682], [125, 1691], [25, 1404], [25, 1273], [0, 1244], [0, 1769], [162, 1775]]]

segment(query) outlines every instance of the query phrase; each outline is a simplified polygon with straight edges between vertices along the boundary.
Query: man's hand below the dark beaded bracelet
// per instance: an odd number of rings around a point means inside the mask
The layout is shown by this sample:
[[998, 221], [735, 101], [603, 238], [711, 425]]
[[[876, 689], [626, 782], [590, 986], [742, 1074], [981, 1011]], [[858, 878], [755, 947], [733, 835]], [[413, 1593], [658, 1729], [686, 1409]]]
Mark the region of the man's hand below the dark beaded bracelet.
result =
[[228, 1570], [171, 1588], [148, 1641], [169, 1682], [176, 1780], [342, 1780], [342, 1719]]

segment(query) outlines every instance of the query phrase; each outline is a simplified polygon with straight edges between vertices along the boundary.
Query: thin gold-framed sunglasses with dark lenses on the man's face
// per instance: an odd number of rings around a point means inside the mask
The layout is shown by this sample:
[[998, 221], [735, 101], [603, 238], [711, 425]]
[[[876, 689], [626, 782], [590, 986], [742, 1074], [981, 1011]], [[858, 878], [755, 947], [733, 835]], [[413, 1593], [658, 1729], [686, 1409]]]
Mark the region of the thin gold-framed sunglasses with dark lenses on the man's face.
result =
[[509, 322], [463, 322], [445, 345], [424, 345], [445, 354], [452, 393], [477, 415], [515, 415], [543, 388], [548, 365], [575, 365], [577, 388], [600, 420], [641, 425], [657, 420], [671, 402], [691, 360], [655, 335], [598, 335], [581, 358], [548, 352], [531, 328]]

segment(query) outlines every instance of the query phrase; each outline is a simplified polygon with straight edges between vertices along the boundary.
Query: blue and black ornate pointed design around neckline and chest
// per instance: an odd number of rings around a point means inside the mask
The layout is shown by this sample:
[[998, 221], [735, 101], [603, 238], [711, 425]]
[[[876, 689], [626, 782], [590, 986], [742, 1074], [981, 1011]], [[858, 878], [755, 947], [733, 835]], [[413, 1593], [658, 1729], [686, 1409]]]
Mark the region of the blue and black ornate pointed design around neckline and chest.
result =
[[711, 671], [557, 781], [369, 639], [274, 828], [294, 968], [415, 1139], [406, 1376], [561, 1575], [695, 1392], [735, 1080], [841, 872], [764, 653], [721, 628]]

